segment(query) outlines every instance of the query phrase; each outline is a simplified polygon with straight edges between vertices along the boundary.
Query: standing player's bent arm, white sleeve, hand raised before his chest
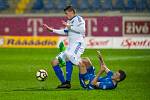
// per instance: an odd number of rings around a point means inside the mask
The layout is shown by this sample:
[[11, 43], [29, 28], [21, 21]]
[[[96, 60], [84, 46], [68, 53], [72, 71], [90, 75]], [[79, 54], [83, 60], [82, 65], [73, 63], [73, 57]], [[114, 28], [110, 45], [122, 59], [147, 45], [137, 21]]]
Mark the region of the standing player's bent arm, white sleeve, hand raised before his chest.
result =
[[75, 25], [69, 25], [67, 22], [63, 22], [63, 24], [71, 31], [77, 33], [84, 33], [85, 32], [85, 22], [82, 19], [75, 20]]

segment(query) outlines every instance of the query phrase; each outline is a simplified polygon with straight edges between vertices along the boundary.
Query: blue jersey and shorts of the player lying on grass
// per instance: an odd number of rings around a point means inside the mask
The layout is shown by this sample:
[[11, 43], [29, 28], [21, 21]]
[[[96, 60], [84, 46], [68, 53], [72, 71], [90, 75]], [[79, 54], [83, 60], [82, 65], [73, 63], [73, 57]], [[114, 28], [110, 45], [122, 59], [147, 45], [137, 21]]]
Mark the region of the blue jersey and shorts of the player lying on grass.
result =
[[111, 77], [113, 75], [112, 71], [109, 71], [105, 77], [99, 77], [98, 79], [98, 87], [95, 87], [91, 84], [92, 80], [95, 78], [95, 74], [86, 73], [80, 78], [80, 84], [83, 88], [86, 89], [114, 89], [117, 84], [114, 85]]

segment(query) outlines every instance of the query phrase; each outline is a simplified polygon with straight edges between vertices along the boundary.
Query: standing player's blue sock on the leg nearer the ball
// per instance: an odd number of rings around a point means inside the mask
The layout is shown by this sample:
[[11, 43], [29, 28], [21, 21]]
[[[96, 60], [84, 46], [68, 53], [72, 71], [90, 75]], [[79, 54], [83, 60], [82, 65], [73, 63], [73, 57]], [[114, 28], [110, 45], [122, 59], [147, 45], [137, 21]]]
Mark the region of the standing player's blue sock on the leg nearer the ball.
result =
[[61, 83], [64, 83], [65, 78], [64, 78], [63, 72], [62, 72], [61, 68], [59, 67], [59, 65], [53, 66], [53, 69], [55, 71], [56, 76], [61, 81]]

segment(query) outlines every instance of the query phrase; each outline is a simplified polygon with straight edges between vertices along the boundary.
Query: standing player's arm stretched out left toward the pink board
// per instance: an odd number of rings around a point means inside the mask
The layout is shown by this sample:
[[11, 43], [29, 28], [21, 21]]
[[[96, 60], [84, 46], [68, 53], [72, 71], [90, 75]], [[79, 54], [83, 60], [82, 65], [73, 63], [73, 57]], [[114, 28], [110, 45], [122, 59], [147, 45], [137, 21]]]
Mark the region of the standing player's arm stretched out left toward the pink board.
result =
[[48, 31], [50, 32], [55, 32], [57, 34], [60, 34], [60, 35], [66, 35], [68, 30], [67, 29], [60, 29], [60, 30], [57, 30], [57, 29], [54, 29], [52, 27], [49, 27], [47, 24], [43, 24], [43, 27], [46, 28]]

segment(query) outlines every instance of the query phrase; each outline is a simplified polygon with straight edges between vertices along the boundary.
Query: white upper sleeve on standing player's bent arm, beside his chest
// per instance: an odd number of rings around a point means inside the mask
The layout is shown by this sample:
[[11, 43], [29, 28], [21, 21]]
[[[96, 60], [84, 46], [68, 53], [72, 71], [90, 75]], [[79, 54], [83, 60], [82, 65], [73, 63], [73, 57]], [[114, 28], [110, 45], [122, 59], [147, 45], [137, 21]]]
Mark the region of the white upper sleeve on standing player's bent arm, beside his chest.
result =
[[77, 33], [85, 33], [85, 21], [83, 20], [83, 18], [77, 16], [74, 24], [71, 25], [70, 30]]

